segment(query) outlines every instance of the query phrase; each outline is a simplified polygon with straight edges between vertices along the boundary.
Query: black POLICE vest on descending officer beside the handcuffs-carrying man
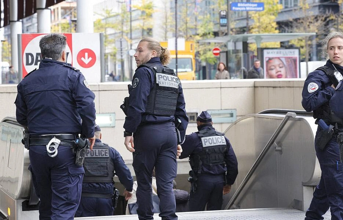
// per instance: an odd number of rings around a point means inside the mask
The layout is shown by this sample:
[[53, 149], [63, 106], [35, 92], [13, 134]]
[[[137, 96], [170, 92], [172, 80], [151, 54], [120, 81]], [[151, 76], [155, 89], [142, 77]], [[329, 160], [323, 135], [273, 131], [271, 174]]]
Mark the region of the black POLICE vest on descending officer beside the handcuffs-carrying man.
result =
[[93, 150], [88, 149], [83, 163], [85, 174], [83, 183], [112, 183], [114, 163], [110, 157], [110, 147], [96, 143]]

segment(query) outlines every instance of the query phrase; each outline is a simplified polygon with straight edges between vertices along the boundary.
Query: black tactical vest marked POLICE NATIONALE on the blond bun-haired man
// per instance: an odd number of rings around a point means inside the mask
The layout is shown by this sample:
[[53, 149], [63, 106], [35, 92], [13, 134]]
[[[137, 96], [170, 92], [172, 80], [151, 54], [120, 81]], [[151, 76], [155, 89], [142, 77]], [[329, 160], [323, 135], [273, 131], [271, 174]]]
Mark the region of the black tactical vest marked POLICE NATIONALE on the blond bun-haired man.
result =
[[154, 86], [147, 97], [146, 114], [157, 116], [171, 116], [175, 114], [177, 98], [179, 96], [180, 79], [165, 66], [155, 63], [145, 63], [154, 73]]

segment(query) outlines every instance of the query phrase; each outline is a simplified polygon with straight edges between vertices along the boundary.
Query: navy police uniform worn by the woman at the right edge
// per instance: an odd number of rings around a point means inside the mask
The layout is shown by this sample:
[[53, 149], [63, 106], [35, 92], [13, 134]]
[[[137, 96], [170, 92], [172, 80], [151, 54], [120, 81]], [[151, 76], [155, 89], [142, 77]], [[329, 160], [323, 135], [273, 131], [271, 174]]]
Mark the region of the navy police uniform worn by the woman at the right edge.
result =
[[[330, 60], [325, 64], [331, 69], [334, 69], [333, 65], [343, 74], [342, 66], [333, 64]], [[306, 111], [313, 111], [315, 119], [322, 119], [327, 125], [337, 125], [337, 129], [343, 129], [343, 115], [338, 114], [342, 111], [342, 102], [338, 102], [340, 98], [331, 87], [332, 84], [333, 81], [325, 71], [315, 70], [309, 73], [303, 88], [301, 104]], [[337, 99], [333, 99], [335, 96]], [[322, 215], [329, 208], [332, 219], [343, 219], [343, 164], [340, 163], [339, 145], [336, 140], [337, 129], [325, 148], [321, 150], [317, 144], [321, 131], [318, 126], [315, 150], [322, 173], [310, 207], [306, 211], [305, 220], [323, 219]]]

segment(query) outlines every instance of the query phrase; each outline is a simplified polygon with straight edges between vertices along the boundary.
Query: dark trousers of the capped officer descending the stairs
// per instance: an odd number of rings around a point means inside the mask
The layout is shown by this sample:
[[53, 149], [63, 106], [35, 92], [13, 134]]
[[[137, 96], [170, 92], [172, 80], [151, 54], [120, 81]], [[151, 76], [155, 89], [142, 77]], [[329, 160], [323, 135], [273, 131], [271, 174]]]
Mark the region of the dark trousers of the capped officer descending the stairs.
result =
[[189, 195], [189, 211], [221, 210], [223, 204], [224, 175], [201, 174], [197, 188]]

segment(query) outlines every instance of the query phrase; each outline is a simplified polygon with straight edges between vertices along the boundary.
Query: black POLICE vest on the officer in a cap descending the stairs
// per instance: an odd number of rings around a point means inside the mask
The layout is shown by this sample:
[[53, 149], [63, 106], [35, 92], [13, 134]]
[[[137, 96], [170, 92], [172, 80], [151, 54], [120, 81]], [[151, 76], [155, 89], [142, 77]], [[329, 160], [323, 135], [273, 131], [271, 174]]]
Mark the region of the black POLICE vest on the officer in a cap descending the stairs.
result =
[[225, 164], [226, 140], [223, 133], [216, 130], [200, 130], [202, 151], [191, 155], [189, 163], [194, 173], [201, 173], [201, 166]]

